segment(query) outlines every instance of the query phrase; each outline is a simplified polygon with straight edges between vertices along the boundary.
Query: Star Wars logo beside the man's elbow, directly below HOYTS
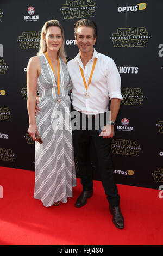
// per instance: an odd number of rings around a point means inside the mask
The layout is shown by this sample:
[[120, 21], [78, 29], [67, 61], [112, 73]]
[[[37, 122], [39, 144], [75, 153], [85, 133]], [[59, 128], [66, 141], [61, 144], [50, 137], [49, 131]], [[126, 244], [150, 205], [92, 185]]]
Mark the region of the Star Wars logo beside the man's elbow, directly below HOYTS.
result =
[[142, 93], [141, 88], [122, 87], [121, 93], [123, 96], [121, 104], [124, 105], [140, 106], [142, 105], [142, 102], [145, 99], [145, 96]]

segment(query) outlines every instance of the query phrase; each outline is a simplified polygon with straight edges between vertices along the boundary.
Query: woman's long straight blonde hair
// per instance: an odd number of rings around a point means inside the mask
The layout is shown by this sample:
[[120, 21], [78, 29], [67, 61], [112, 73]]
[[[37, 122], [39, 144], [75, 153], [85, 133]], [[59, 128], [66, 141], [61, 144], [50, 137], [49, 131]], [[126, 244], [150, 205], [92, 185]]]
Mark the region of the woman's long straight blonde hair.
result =
[[61, 34], [62, 34], [62, 45], [58, 51], [58, 55], [62, 58], [66, 58], [66, 53], [65, 53], [65, 36], [64, 36], [64, 29], [63, 27], [60, 25], [58, 20], [50, 20], [45, 22], [45, 24], [42, 27], [41, 30], [41, 39], [40, 39], [40, 47], [39, 47], [39, 52], [37, 52], [37, 56], [41, 55], [42, 53], [47, 51], [47, 45], [46, 45], [46, 41], [43, 40], [43, 35], [45, 36], [47, 33], [47, 29], [51, 26], [56, 26], [59, 27], [61, 29]]

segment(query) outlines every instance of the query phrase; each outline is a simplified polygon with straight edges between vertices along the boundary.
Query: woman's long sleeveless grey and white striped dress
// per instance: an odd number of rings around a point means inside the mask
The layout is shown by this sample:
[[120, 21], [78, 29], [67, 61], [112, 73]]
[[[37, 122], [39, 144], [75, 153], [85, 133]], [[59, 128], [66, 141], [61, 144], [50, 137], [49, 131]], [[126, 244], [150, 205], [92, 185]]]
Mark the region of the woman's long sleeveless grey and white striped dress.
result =
[[70, 119], [71, 101], [68, 96], [70, 78], [64, 60], [60, 62], [60, 99], [57, 102], [55, 76], [45, 54], [39, 56], [41, 73], [37, 80], [40, 95], [37, 129], [43, 144], [35, 143], [34, 198], [48, 207], [54, 202], [67, 202], [76, 186]]

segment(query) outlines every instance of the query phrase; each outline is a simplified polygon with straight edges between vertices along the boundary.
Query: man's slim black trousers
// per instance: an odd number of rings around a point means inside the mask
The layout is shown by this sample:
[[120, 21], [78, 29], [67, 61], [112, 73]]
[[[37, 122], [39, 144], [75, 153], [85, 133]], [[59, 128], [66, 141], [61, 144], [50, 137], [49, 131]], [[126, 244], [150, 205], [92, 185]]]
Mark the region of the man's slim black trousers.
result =
[[[89, 130], [89, 118], [86, 119], [86, 130], [82, 130], [82, 113], [81, 113], [81, 129], [73, 130], [73, 145], [74, 154], [77, 157], [81, 183], [83, 191], [88, 191], [93, 188], [93, 176], [90, 159], [90, 146], [96, 151], [98, 162], [98, 170], [101, 176], [102, 185], [105, 190], [108, 202], [111, 206], [118, 206], [120, 204], [120, 196], [118, 195], [117, 186], [115, 183], [114, 168], [112, 166], [110, 153], [110, 139], [99, 136], [98, 130]], [[95, 118], [92, 118], [92, 123], [95, 123]]]

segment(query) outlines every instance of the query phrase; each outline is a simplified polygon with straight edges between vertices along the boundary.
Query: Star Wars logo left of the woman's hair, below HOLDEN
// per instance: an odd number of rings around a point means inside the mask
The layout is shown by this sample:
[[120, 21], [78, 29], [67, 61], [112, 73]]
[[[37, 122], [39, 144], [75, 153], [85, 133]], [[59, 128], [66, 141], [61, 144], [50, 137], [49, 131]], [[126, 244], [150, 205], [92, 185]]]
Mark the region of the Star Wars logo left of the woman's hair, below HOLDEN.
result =
[[17, 42], [21, 49], [38, 49], [40, 45], [41, 31], [24, 31], [18, 36]]

